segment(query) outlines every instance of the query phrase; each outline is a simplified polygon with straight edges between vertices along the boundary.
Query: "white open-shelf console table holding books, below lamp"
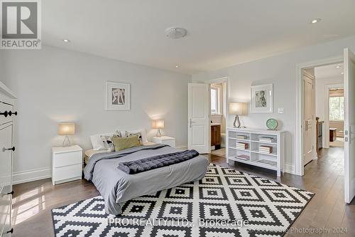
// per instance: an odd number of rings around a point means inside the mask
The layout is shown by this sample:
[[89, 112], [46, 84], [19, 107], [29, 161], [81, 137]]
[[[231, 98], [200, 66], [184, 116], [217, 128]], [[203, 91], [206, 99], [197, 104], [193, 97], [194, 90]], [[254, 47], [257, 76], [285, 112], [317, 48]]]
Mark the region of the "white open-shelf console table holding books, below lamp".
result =
[[[244, 138], [241, 138], [244, 137]], [[261, 141], [268, 137], [270, 142]], [[248, 148], [238, 148], [238, 142], [248, 144]], [[273, 152], [259, 152], [261, 145], [272, 147]], [[280, 177], [285, 160], [285, 132], [279, 130], [258, 130], [249, 128], [227, 128], [226, 132], [226, 161], [233, 160], [257, 167], [273, 169]]]

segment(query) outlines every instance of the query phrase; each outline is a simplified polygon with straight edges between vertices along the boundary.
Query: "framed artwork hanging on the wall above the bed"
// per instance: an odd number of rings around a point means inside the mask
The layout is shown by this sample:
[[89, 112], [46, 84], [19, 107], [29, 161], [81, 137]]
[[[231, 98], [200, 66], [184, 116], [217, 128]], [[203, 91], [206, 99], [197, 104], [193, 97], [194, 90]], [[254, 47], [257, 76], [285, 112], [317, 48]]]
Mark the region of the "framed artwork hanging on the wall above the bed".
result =
[[106, 83], [106, 110], [130, 110], [131, 88], [126, 83]]

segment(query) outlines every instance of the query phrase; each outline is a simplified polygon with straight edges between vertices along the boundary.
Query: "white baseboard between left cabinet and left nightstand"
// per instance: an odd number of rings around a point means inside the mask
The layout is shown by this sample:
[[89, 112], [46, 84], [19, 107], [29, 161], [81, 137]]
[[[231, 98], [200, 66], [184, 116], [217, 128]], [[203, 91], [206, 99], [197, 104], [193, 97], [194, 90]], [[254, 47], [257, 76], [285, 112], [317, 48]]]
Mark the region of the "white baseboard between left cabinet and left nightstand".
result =
[[13, 172], [13, 184], [22, 184], [40, 179], [48, 179], [52, 177], [51, 173], [51, 168], [30, 169], [23, 172]]

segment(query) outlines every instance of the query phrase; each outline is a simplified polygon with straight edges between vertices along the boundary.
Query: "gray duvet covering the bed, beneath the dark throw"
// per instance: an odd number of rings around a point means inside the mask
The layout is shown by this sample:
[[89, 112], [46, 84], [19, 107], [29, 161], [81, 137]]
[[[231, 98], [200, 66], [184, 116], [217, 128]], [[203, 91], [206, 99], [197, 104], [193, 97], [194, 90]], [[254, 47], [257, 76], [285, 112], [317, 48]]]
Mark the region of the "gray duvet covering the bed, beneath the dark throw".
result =
[[133, 147], [121, 152], [94, 154], [84, 169], [84, 178], [92, 181], [104, 197], [107, 214], [118, 215], [122, 213], [121, 203], [124, 201], [204, 177], [208, 160], [202, 156], [138, 174], [126, 174], [117, 168], [119, 162], [178, 151], [173, 147], [155, 144]]

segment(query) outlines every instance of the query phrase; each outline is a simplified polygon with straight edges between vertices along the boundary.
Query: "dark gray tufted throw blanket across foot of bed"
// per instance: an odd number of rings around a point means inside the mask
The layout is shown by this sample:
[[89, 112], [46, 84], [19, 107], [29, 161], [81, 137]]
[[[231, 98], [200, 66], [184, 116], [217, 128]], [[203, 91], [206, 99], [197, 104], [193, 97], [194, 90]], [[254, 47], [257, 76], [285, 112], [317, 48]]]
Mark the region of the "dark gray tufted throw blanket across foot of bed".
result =
[[188, 159], [197, 157], [199, 152], [195, 149], [186, 150], [184, 152], [174, 152], [170, 154], [160, 154], [155, 157], [147, 157], [144, 159], [138, 159], [131, 162], [121, 162], [119, 163], [119, 169], [126, 174], [138, 174], [141, 172], [146, 172], [151, 169], [157, 169], [160, 167], [166, 167], [171, 164], [178, 164], [180, 162], [185, 162]]

